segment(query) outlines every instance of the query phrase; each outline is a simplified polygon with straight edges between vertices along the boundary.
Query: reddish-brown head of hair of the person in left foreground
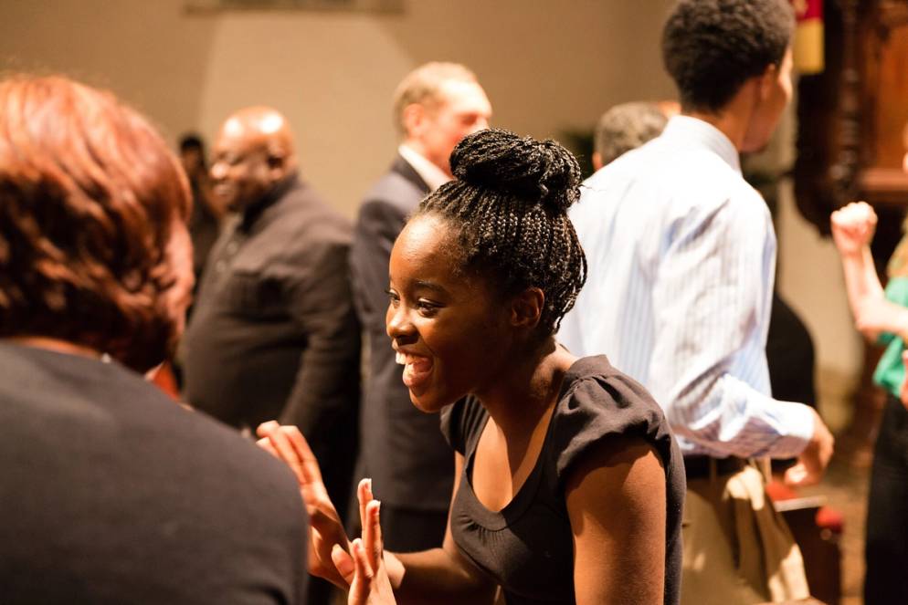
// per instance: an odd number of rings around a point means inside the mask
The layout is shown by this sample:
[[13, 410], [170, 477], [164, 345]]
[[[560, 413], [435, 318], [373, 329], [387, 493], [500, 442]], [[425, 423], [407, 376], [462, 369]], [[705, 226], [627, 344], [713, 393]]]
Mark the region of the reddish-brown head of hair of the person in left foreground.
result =
[[0, 338], [62, 339], [140, 371], [166, 359], [190, 199], [174, 154], [112, 94], [0, 82]]

